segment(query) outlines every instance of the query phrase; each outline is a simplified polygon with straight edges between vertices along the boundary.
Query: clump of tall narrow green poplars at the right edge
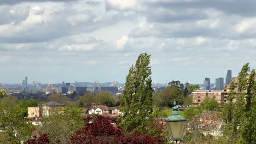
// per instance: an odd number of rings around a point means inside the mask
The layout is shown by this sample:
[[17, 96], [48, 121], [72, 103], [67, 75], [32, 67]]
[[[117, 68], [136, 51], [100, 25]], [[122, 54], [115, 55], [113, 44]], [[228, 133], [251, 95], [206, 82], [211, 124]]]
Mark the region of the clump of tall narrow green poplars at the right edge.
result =
[[[229, 143], [255, 143], [256, 141], [256, 74], [255, 69], [248, 75], [249, 63], [245, 64], [238, 76], [238, 89], [235, 92], [231, 82], [228, 103], [224, 105], [224, 137]], [[232, 99], [237, 97], [236, 103]]]

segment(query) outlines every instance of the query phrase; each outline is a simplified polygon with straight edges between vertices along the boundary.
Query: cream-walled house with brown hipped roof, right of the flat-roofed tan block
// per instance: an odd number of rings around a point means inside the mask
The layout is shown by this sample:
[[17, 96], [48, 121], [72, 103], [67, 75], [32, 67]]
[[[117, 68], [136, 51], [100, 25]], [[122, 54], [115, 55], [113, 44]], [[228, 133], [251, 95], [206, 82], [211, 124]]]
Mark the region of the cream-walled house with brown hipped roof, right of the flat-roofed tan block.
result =
[[64, 109], [65, 105], [57, 103], [55, 101], [50, 101], [49, 103], [43, 104], [42, 106], [42, 115], [49, 116], [51, 111], [57, 109]]

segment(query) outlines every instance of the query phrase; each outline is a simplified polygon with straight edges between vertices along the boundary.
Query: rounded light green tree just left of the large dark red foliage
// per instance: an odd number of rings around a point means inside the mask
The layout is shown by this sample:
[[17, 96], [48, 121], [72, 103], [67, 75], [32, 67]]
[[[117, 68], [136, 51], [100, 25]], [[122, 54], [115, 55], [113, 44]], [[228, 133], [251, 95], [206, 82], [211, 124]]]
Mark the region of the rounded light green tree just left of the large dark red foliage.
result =
[[60, 143], [70, 143], [69, 136], [76, 130], [83, 127], [83, 118], [80, 116], [82, 108], [66, 107], [64, 110], [56, 109], [50, 116], [42, 117], [42, 125], [37, 126], [40, 134], [48, 133], [51, 141], [60, 141]]

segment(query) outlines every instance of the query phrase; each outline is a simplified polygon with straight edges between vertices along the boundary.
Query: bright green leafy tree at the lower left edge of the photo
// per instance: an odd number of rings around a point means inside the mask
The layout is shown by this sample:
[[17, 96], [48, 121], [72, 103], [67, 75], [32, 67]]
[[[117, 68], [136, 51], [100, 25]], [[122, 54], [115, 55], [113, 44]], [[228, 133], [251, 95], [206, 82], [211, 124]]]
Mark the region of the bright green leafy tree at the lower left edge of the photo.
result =
[[[18, 101], [14, 97], [4, 97], [0, 101], [0, 124], [7, 127], [7, 140], [11, 143], [20, 143], [31, 136], [33, 125], [27, 123], [27, 107], [33, 100]], [[16, 136], [15, 136], [16, 135]]]

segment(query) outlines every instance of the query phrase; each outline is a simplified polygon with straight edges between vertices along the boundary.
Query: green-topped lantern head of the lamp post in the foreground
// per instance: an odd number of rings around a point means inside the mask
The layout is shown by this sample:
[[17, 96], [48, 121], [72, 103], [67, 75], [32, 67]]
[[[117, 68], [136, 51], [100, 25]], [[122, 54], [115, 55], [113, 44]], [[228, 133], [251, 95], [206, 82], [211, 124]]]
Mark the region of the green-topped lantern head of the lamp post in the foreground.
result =
[[181, 143], [183, 140], [183, 132], [185, 129], [186, 119], [179, 115], [178, 106], [176, 106], [176, 101], [174, 100], [172, 107], [172, 115], [168, 118], [165, 118], [167, 125], [168, 133], [172, 137], [172, 141], [176, 143]]

